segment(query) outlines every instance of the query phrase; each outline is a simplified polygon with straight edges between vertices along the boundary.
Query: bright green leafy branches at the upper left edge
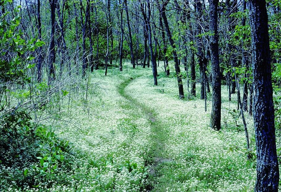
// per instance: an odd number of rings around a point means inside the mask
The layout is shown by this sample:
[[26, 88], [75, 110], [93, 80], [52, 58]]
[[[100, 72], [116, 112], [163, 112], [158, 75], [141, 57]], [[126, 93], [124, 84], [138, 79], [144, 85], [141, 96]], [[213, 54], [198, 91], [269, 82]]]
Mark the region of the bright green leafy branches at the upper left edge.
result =
[[[8, 1], [4, 1], [6, 5]], [[2, 87], [0, 94], [6, 89], [6, 84], [17, 83], [24, 84], [31, 81], [27, 77], [26, 71], [35, 65], [30, 62], [34, 57], [30, 52], [42, 46], [44, 42], [36, 39], [25, 40], [23, 32], [18, 29], [20, 24], [19, 8], [17, 6], [14, 12], [17, 14], [12, 20], [8, 18], [12, 15], [6, 12], [1, 15], [0, 20], [0, 47], [2, 48], [0, 57], [0, 83]]]

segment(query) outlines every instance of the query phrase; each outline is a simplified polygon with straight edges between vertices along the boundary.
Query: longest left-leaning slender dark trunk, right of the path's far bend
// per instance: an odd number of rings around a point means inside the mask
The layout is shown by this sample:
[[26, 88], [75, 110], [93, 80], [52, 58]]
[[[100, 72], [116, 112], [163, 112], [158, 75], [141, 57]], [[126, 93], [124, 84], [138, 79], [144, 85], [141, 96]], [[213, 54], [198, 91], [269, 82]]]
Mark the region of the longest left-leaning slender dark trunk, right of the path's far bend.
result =
[[182, 85], [182, 74], [179, 68], [179, 64], [178, 64], [178, 54], [176, 52], [176, 46], [175, 46], [175, 42], [172, 38], [172, 33], [170, 31], [170, 27], [169, 27], [169, 23], [166, 17], [166, 5], [168, 4], [169, 1], [164, 2], [162, 5], [158, 5], [158, 9], [162, 15], [162, 19], [164, 22], [164, 26], [166, 28], [166, 33], [170, 42], [171, 47], [173, 48], [173, 57], [174, 57], [174, 63], [175, 63], [175, 71], [177, 74], [177, 80], [178, 80], [178, 92], [179, 92], [179, 98], [182, 99], [184, 98], [184, 93], [183, 93], [183, 85]]

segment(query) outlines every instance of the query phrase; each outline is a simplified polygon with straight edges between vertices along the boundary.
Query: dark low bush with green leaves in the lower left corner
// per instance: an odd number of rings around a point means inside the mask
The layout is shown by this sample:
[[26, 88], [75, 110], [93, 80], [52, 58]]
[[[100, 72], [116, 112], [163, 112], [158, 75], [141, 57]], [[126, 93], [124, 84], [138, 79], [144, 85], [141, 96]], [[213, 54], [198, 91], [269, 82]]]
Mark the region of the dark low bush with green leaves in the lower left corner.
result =
[[14, 111], [0, 120], [0, 179], [13, 185], [37, 187], [57, 180], [60, 169], [71, 170], [69, 142], [51, 127], [32, 122], [24, 111]]

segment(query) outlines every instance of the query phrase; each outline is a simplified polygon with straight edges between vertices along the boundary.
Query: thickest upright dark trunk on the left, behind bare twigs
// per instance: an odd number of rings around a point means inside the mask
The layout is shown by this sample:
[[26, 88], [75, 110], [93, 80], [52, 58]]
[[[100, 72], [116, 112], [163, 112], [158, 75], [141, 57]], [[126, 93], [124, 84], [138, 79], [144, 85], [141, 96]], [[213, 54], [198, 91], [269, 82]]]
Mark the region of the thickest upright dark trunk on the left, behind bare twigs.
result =
[[55, 20], [56, 20], [56, 4], [57, 0], [49, 0], [51, 7], [51, 41], [49, 47], [49, 82], [56, 78], [55, 73], [55, 61], [56, 61], [56, 50], [55, 50]]

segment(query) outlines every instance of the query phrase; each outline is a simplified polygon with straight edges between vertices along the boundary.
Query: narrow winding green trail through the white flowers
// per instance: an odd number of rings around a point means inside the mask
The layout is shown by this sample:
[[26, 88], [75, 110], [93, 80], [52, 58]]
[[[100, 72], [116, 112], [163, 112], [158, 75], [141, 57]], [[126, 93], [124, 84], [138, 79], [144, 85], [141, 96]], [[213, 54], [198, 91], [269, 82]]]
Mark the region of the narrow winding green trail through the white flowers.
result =
[[[144, 104], [137, 102], [125, 92], [125, 88], [137, 77], [141, 75], [130, 77], [123, 81], [118, 87], [118, 93], [124, 97], [132, 108], [139, 108], [146, 116], [151, 127], [151, 150], [148, 151], [147, 157], [145, 157], [145, 166], [149, 170], [147, 177], [146, 190], [157, 191], [157, 185], [159, 185], [158, 179], [163, 173], [157, 171], [157, 166], [172, 162], [171, 159], [166, 159], [163, 155], [165, 151], [165, 143], [168, 139], [168, 132], [163, 130], [163, 124], [157, 119], [157, 112], [145, 106]], [[145, 99], [145, 98], [144, 98]]]

